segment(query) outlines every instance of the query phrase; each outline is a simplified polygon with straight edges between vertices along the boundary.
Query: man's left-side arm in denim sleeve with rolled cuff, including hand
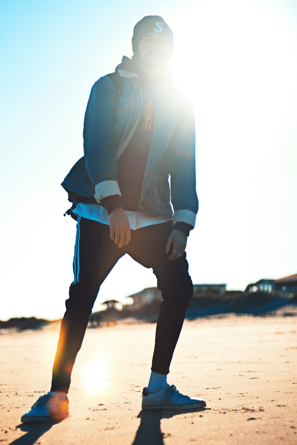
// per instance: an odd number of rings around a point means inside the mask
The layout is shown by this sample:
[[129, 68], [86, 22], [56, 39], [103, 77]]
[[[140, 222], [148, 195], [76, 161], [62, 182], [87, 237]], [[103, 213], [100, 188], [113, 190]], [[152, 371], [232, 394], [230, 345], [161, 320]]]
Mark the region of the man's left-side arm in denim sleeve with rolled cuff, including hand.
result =
[[117, 158], [112, 141], [115, 89], [99, 79], [93, 86], [84, 115], [84, 162], [98, 204], [108, 208], [110, 238], [118, 247], [130, 241], [130, 224], [120, 206]]

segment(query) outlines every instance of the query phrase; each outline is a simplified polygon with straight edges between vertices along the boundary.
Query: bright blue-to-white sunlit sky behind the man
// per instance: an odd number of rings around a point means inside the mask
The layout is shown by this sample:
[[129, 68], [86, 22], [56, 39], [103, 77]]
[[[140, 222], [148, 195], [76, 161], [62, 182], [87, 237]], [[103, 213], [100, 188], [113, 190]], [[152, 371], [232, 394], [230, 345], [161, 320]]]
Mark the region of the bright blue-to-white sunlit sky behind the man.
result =
[[[83, 154], [93, 83], [132, 55], [150, 14], [173, 30], [169, 67], [196, 117], [193, 283], [244, 290], [297, 273], [296, 1], [2, 0], [0, 320], [64, 314], [76, 223], [60, 183]], [[94, 310], [156, 285], [126, 255]]]

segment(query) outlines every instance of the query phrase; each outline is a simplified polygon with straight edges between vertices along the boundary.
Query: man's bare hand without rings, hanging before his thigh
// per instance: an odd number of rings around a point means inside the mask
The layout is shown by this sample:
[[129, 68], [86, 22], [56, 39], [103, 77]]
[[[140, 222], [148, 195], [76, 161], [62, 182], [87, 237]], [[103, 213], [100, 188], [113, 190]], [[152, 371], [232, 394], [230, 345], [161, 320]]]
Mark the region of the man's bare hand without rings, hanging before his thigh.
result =
[[118, 247], [127, 245], [131, 239], [129, 220], [123, 207], [117, 207], [109, 214], [110, 238]]

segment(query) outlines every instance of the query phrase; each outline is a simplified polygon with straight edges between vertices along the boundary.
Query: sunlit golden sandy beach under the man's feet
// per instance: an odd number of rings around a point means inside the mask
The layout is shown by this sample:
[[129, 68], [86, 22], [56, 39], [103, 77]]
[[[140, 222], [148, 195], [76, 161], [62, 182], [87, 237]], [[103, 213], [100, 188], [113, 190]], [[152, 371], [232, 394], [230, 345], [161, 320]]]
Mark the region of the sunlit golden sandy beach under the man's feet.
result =
[[203, 411], [142, 412], [155, 324], [89, 328], [69, 392], [70, 416], [25, 425], [50, 388], [58, 324], [0, 336], [4, 444], [181, 445], [297, 443], [297, 317], [186, 320], [169, 383], [204, 398]]

